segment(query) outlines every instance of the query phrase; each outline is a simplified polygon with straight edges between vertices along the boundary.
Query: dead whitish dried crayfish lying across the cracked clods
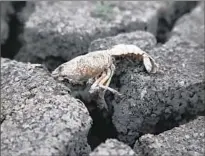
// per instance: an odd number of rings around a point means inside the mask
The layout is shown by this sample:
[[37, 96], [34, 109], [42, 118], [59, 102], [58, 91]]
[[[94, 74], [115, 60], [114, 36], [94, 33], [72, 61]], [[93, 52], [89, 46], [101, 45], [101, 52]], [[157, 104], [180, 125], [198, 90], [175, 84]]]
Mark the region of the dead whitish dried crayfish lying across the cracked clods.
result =
[[158, 70], [158, 65], [149, 54], [135, 45], [119, 44], [111, 49], [90, 52], [63, 63], [52, 72], [52, 76], [60, 81], [67, 79], [73, 84], [93, 82], [90, 88], [91, 93], [99, 88], [118, 93], [109, 87], [115, 71], [115, 56], [131, 56], [142, 60], [149, 73], [155, 73]]

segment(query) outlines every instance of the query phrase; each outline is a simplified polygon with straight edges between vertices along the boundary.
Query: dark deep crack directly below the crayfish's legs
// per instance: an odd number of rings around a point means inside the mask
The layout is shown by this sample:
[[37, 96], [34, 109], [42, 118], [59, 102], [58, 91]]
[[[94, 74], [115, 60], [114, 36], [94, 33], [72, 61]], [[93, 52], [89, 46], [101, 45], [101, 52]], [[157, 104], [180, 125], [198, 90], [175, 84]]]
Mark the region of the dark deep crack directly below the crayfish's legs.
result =
[[110, 108], [110, 105], [108, 105], [108, 110], [106, 110], [103, 107], [104, 105], [100, 105], [101, 103], [97, 99], [98, 95], [91, 96], [88, 93], [88, 87], [85, 88], [76, 87], [77, 91], [73, 94], [73, 96], [77, 99], [80, 99], [85, 104], [93, 120], [93, 124], [89, 130], [87, 139], [91, 149], [94, 150], [94, 148], [96, 148], [102, 142], [105, 142], [107, 138], [116, 139], [117, 130], [112, 123], [113, 112], [112, 108]]

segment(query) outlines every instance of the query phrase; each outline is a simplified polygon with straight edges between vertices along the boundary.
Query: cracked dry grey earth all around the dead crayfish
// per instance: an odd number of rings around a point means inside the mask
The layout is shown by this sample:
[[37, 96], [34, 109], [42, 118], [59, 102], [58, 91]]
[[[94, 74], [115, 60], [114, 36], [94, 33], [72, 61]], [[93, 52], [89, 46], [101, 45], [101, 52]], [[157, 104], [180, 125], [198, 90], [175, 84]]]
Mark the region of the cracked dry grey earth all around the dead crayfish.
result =
[[[202, 1], [1, 2], [3, 156], [203, 156]], [[163, 72], [116, 59], [109, 115], [51, 77], [58, 65], [134, 44]], [[82, 93], [82, 94], [81, 94]]]

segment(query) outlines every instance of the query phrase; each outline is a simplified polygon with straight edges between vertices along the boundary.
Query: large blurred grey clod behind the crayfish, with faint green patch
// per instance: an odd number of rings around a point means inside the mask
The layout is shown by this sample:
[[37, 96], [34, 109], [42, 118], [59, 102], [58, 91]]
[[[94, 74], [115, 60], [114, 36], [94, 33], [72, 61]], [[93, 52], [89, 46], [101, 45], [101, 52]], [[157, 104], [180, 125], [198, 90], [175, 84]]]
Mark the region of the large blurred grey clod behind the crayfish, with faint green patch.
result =
[[[53, 70], [87, 53], [90, 42], [99, 37], [139, 29], [156, 34], [158, 16], [164, 13], [161, 10], [168, 10], [167, 16], [174, 16], [177, 3], [35, 2], [34, 12], [25, 20], [23, 47], [15, 59], [43, 63]], [[186, 10], [188, 4], [192, 3], [180, 2], [180, 10]]]

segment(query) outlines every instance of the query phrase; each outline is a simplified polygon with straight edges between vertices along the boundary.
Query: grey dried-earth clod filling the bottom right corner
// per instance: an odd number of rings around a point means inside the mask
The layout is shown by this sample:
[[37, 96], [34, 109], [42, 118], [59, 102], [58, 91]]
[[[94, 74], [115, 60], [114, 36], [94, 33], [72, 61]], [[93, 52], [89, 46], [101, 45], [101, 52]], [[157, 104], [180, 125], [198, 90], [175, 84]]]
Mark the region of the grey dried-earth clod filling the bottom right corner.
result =
[[159, 135], [146, 134], [135, 143], [140, 156], [204, 156], [205, 117], [175, 127]]

